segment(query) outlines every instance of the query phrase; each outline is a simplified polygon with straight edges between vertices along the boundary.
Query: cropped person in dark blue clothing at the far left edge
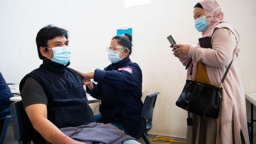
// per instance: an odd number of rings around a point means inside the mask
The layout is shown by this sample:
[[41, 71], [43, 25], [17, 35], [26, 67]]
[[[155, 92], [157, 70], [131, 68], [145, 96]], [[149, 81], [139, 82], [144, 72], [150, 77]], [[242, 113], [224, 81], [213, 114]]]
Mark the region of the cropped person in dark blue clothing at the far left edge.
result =
[[0, 72], [0, 116], [6, 116], [10, 114], [9, 106], [12, 104], [12, 102], [9, 100], [10, 97], [13, 97], [13, 94], [5, 82], [5, 78]]

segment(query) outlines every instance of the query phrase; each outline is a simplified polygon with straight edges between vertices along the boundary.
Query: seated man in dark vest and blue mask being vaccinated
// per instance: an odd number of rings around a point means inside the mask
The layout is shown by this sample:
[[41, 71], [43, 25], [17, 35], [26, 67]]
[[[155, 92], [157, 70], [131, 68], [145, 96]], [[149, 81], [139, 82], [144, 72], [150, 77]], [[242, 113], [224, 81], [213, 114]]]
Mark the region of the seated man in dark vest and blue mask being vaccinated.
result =
[[33, 142], [84, 144], [60, 130], [95, 122], [81, 77], [67, 67], [71, 57], [68, 31], [47, 25], [38, 32], [36, 45], [43, 64], [28, 73], [19, 87], [24, 109], [37, 131]]

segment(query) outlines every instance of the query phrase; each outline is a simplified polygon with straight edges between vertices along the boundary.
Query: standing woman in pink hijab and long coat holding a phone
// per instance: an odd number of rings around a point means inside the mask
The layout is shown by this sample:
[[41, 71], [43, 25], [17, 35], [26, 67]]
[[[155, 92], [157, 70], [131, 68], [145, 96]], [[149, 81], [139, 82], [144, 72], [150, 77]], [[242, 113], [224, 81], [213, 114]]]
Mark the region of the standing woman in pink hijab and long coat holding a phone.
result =
[[[192, 67], [191, 80], [215, 85], [233, 60], [222, 85], [223, 102], [220, 103], [218, 119], [204, 118], [192, 114], [193, 125], [187, 127], [187, 144], [249, 144], [244, 87], [237, 56], [239, 33], [227, 24], [216, 0], [202, 0], [193, 9], [195, 28], [202, 32], [202, 38], [211, 36], [211, 46], [181, 45], [173, 49], [184, 66], [189, 64], [187, 79]], [[172, 47], [172, 46], [170, 46]]]

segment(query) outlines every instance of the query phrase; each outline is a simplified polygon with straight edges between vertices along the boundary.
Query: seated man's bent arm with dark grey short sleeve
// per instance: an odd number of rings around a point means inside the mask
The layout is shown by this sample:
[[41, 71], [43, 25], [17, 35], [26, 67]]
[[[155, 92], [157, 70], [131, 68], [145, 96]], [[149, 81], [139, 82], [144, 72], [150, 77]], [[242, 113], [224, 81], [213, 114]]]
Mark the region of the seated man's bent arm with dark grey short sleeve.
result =
[[22, 103], [34, 129], [52, 144], [84, 144], [61, 132], [47, 119], [47, 97], [43, 86], [28, 77], [21, 91]]

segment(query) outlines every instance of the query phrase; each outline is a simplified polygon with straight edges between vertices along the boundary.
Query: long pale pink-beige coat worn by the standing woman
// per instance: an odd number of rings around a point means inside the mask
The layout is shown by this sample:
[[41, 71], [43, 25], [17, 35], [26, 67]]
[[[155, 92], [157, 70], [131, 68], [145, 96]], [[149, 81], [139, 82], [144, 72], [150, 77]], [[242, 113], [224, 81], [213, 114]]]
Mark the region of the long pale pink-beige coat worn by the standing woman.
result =
[[[223, 102], [220, 104], [220, 113], [217, 119], [216, 143], [238, 144], [240, 130], [242, 130], [245, 142], [249, 144], [245, 93], [237, 63], [239, 33], [229, 24], [221, 23], [215, 26], [208, 35], [212, 37], [212, 49], [192, 45], [188, 56], [181, 56], [179, 59], [186, 66], [190, 57], [193, 57], [192, 80], [195, 78], [197, 62], [201, 61], [206, 64], [210, 83], [216, 87], [231, 60], [234, 59], [223, 84]], [[189, 71], [187, 79], [188, 76]]]

